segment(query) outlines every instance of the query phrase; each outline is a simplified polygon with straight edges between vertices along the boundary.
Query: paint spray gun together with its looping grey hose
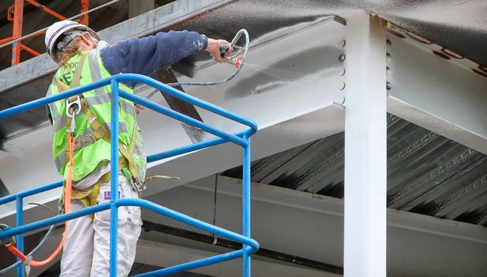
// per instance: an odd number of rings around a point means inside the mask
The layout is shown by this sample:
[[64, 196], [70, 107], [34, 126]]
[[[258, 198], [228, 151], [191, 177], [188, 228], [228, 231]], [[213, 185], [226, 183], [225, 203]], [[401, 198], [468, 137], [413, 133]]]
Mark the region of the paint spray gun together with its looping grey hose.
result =
[[[240, 37], [242, 37], [242, 34], [245, 35], [245, 46], [244, 47], [240, 47], [240, 46], [235, 45], [237, 43], [237, 41], [240, 39]], [[227, 78], [222, 79], [222, 80], [219, 80], [219, 81], [214, 81], [214, 82], [177, 82], [177, 83], [168, 83], [166, 85], [171, 86], [171, 87], [174, 87], [174, 86], [185, 86], [185, 85], [211, 86], [211, 85], [219, 85], [219, 84], [225, 83], [225, 82], [233, 79], [240, 72], [240, 70], [242, 70], [242, 67], [243, 67], [243, 65], [245, 63], [245, 59], [247, 59], [248, 44], [249, 44], [248, 32], [245, 29], [241, 29], [240, 31], [237, 32], [237, 34], [233, 38], [232, 42], [230, 42], [230, 44], [228, 44], [228, 45], [222, 45], [220, 47], [220, 55], [222, 57], [225, 57], [225, 53], [226, 53], [226, 51], [228, 51], [228, 49], [230, 49], [232, 47], [234, 48], [234, 52], [232, 52], [232, 54], [230, 54], [230, 56], [226, 57], [225, 62], [226, 63], [229, 63], [229, 64], [235, 65], [235, 67], [237, 68], [237, 70], [235, 70], [235, 72], [233, 72], [233, 74], [230, 75], [230, 76], [228, 76]], [[240, 56], [242, 54], [242, 52], [243, 52], [243, 56], [237, 58], [238, 56]], [[158, 91], [159, 90], [157, 90], [157, 89], [151, 91], [145, 97], [145, 99], [150, 99]]]

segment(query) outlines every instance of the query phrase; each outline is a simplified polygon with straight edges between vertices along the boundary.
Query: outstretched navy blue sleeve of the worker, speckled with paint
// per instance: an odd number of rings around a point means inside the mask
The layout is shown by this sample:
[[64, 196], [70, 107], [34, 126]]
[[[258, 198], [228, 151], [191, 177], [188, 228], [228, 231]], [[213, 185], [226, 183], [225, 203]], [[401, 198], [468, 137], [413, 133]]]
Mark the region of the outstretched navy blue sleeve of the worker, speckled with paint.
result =
[[[142, 39], [122, 40], [100, 52], [105, 68], [111, 75], [137, 73], [148, 75], [187, 56], [206, 49], [205, 35], [188, 31], [160, 32]], [[135, 83], [127, 83], [134, 87]]]

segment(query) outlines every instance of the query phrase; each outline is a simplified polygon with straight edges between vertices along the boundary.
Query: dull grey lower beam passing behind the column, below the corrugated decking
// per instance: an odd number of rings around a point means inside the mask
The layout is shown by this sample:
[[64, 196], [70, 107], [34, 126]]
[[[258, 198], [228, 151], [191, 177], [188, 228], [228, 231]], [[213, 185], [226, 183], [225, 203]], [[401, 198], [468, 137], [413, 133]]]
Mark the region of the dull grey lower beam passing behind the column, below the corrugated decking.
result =
[[[343, 264], [342, 199], [261, 183], [251, 185], [252, 237], [262, 248], [338, 266]], [[148, 199], [211, 223], [214, 186], [215, 178], [210, 176]], [[218, 226], [241, 231], [241, 190], [240, 179], [218, 178]], [[143, 212], [143, 218], [195, 230], [149, 212]], [[393, 209], [387, 209], [387, 220], [387, 276], [487, 275], [485, 227]], [[143, 239], [215, 251], [211, 245], [190, 244], [187, 239], [156, 232], [144, 234]]]

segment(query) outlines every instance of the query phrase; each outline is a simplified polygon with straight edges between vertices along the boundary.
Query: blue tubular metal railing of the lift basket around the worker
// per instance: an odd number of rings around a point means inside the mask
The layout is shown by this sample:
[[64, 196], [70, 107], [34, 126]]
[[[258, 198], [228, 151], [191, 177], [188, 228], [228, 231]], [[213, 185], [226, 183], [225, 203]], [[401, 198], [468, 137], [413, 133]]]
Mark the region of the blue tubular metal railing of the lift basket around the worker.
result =
[[[196, 119], [190, 118], [186, 115], [183, 115], [181, 113], [175, 112], [167, 107], [164, 107], [162, 105], [156, 104], [154, 102], [151, 102], [147, 99], [143, 99], [141, 97], [138, 97], [133, 94], [129, 94], [124, 91], [120, 91], [118, 84], [121, 81], [137, 81], [137, 82], [142, 82], [147, 85], [150, 85], [151, 87], [157, 88], [164, 93], [167, 93], [169, 95], [172, 95], [176, 98], [182, 99], [190, 104], [193, 104], [195, 106], [199, 106], [203, 109], [206, 109], [210, 112], [216, 113], [218, 115], [221, 115], [225, 118], [232, 119], [236, 122], [242, 123], [248, 127], [249, 129], [246, 129], [241, 132], [237, 133], [226, 133], [223, 130], [220, 130], [218, 128], [212, 127], [206, 123], [203, 123], [201, 121], [198, 121]], [[141, 104], [151, 110], [154, 110], [158, 113], [161, 113], [163, 115], [166, 115], [170, 118], [182, 121], [184, 123], [193, 125], [195, 127], [201, 128], [202, 130], [213, 134], [217, 136], [218, 138], [215, 139], [209, 139], [206, 141], [198, 142], [195, 144], [187, 145], [184, 147], [176, 148], [173, 150], [169, 150], [166, 152], [161, 152], [157, 153], [154, 155], [150, 155], [147, 157], [148, 162], [160, 160], [163, 158], [169, 158], [181, 154], [185, 154], [191, 151], [203, 149], [206, 147], [218, 145], [225, 143], [227, 141], [233, 142], [235, 144], [238, 144], [242, 146], [243, 148], [243, 235], [227, 231], [225, 229], [222, 229], [220, 227], [208, 224], [206, 222], [203, 222], [201, 220], [195, 219], [188, 217], [186, 215], [183, 215], [181, 213], [178, 213], [176, 211], [170, 210], [168, 208], [162, 207], [160, 205], [154, 204], [150, 201], [144, 200], [144, 199], [117, 199], [118, 193], [118, 173], [116, 170], [112, 170], [111, 172], [111, 199], [110, 202], [102, 203], [102, 204], [97, 204], [88, 208], [84, 208], [75, 212], [71, 212], [68, 214], [52, 217], [52, 218], [46, 218], [42, 219], [36, 222], [32, 222], [26, 225], [23, 225], [23, 210], [22, 210], [22, 202], [23, 198], [31, 195], [35, 195], [41, 192], [45, 192], [57, 187], [61, 187], [63, 185], [63, 181], [56, 181], [54, 183], [42, 185], [40, 187], [26, 190], [19, 192], [17, 194], [9, 195], [3, 198], [0, 198], [0, 205], [5, 204], [11, 201], [17, 201], [17, 227], [15, 228], [8, 228], [5, 229], [4, 231], [0, 232], [0, 240], [7, 238], [7, 237], [12, 237], [12, 236], [17, 236], [17, 248], [20, 251], [24, 251], [23, 249], [23, 233], [29, 232], [32, 230], [36, 230], [38, 228], [42, 227], [47, 227], [53, 224], [61, 223], [66, 220], [71, 220], [74, 218], [79, 218], [83, 217], [86, 215], [91, 215], [97, 212], [101, 212], [104, 210], [110, 209], [111, 211], [111, 218], [110, 218], [110, 276], [111, 277], [116, 277], [117, 275], [117, 220], [118, 220], [118, 210], [117, 208], [120, 206], [138, 206], [141, 208], [146, 208], [151, 211], [157, 212], [163, 216], [181, 221], [183, 223], [186, 223], [188, 225], [194, 226], [196, 228], [205, 230], [207, 232], [211, 232], [217, 236], [220, 237], [225, 237], [227, 239], [237, 241], [243, 244], [243, 248], [241, 250], [229, 252], [226, 254], [221, 254], [213, 257], [207, 257], [203, 258], [200, 260], [196, 261], [191, 261], [187, 262], [184, 264], [180, 265], [175, 265], [171, 266], [168, 268], [164, 268], [161, 270], [156, 270], [152, 271], [149, 273], [137, 275], [137, 276], [167, 276], [170, 274], [182, 272], [182, 271], [187, 271], [190, 269], [210, 265], [210, 264], [215, 264], [223, 261], [227, 261], [230, 259], [234, 258], [243, 258], [243, 276], [244, 277], [250, 277], [250, 255], [254, 254], [257, 252], [259, 249], [259, 244], [257, 241], [254, 239], [250, 238], [250, 136], [255, 134], [257, 132], [257, 124], [250, 120], [246, 119], [242, 116], [239, 116], [235, 113], [232, 113], [230, 111], [227, 111], [221, 107], [218, 107], [216, 105], [213, 105], [211, 103], [208, 103], [204, 100], [197, 99], [195, 97], [192, 97], [190, 95], [184, 94], [180, 92], [179, 90], [176, 90], [172, 87], [169, 87], [159, 81], [156, 81], [154, 79], [150, 79], [149, 77], [143, 76], [143, 75], [138, 75], [138, 74], [120, 74], [116, 76], [112, 76], [107, 79], [99, 80], [81, 87], [77, 87], [53, 96], [49, 97], [44, 97], [41, 99], [33, 100], [31, 102], [21, 104], [3, 111], [0, 111], [0, 119], [6, 118], [15, 114], [19, 114], [21, 112], [24, 112], [26, 110], [34, 109], [43, 105], [46, 105], [48, 103], [61, 100], [61, 99], [67, 99], [71, 96], [81, 94], [83, 92], [87, 92], [90, 90], [94, 90], [95, 88], [106, 86], [106, 85], [111, 85], [112, 86], [112, 122], [118, 121], [118, 100], [119, 97], [131, 100], [135, 103]], [[118, 124], [111, 124], [111, 158], [112, 158], [112, 168], [118, 168]], [[22, 265], [19, 265], [17, 268], [17, 276], [18, 277], [23, 277], [24, 276], [24, 268]]]

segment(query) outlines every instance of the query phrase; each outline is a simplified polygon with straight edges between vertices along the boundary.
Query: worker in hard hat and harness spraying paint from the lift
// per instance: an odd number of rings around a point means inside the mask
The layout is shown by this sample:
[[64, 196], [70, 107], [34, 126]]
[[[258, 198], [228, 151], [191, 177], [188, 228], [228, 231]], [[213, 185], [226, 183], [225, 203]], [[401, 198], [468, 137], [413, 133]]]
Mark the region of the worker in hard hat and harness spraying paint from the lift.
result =
[[[91, 28], [69, 20], [50, 26], [45, 43], [47, 52], [59, 65], [47, 96], [115, 74], [148, 75], [202, 50], [211, 53], [216, 61], [224, 61], [220, 47], [228, 44], [196, 32], [169, 31], [108, 45]], [[231, 49], [227, 51], [230, 53]], [[126, 81], [119, 87], [133, 93], [135, 82]], [[70, 158], [66, 143], [70, 136], [75, 138], [71, 211], [110, 201], [110, 99], [107, 85], [48, 106], [54, 126], [54, 159], [64, 180]], [[118, 197], [139, 198], [146, 172], [146, 156], [136, 120], [140, 107], [120, 99], [119, 111], [121, 166], [115, 169], [119, 175]], [[118, 276], [129, 275], [141, 225], [139, 207], [118, 208]], [[60, 276], [109, 276], [110, 210], [70, 220], [67, 232]]]

